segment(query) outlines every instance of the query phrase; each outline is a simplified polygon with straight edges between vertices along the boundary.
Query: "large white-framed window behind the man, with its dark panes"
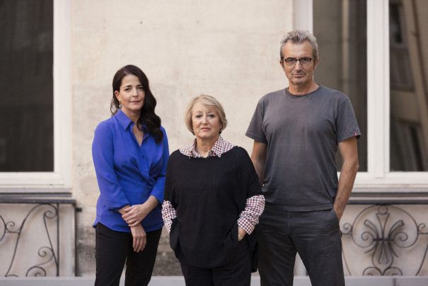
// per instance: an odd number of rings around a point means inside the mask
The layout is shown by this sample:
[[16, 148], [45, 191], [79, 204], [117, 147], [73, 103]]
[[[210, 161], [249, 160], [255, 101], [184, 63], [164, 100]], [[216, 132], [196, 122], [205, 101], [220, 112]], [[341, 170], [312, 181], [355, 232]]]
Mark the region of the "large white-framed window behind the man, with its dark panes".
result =
[[318, 40], [315, 81], [349, 96], [362, 130], [354, 193], [427, 192], [428, 2], [293, 4]]

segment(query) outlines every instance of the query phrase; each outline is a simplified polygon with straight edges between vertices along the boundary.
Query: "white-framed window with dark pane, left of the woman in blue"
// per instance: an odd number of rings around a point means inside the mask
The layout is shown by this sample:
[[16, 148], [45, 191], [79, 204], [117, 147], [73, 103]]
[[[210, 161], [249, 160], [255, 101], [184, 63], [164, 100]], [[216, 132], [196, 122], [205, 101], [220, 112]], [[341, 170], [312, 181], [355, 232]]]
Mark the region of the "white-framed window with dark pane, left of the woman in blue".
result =
[[0, 193], [69, 193], [71, 1], [1, 1], [0, 23]]

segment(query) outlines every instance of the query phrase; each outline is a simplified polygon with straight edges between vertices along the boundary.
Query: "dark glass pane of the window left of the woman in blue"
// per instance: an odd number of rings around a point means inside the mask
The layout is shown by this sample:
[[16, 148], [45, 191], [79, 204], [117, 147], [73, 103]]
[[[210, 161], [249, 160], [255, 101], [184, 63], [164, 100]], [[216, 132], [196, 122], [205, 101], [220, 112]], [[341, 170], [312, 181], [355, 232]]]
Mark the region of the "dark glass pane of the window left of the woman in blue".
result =
[[53, 1], [0, 0], [0, 171], [53, 171]]

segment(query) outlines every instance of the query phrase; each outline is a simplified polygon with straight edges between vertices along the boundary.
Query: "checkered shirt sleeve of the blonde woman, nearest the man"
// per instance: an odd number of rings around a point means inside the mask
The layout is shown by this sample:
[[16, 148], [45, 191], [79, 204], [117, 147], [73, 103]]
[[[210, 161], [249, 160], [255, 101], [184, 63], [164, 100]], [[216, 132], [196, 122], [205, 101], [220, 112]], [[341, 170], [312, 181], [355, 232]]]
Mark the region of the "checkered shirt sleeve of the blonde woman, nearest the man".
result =
[[263, 210], [265, 210], [264, 195], [254, 195], [248, 198], [245, 210], [239, 215], [238, 226], [242, 227], [247, 234], [251, 234], [255, 225], [259, 223], [259, 217]]

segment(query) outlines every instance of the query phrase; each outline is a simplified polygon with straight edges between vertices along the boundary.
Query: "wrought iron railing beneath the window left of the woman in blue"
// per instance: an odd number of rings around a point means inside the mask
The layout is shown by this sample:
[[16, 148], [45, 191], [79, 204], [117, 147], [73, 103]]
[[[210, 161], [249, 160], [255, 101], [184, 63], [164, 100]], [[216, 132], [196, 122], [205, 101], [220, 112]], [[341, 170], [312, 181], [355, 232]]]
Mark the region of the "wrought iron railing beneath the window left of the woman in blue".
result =
[[[0, 204], [8, 206], [0, 209], [1, 263], [7, 268], [1, 275], [59, 276], [60, 205], [75, 203], [66, 199], [0, 198]], [[21, 215], [17, 217], [17, 213]], [[8, 218], [11, 216], [17, 218]]]

